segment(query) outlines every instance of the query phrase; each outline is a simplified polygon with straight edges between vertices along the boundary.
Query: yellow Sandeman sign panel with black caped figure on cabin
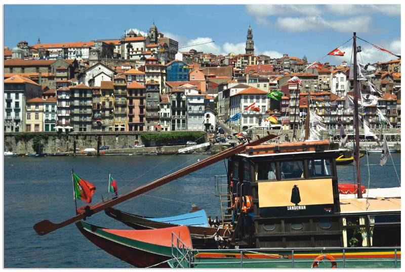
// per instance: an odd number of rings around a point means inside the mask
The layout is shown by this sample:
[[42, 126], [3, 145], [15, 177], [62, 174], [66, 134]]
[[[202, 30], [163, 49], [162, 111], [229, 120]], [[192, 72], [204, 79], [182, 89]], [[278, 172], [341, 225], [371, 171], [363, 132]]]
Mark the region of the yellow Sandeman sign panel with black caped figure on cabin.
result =
[[294, 185], [299, 189], [299, 205], [333, 204], [331, 178], [285, 180], [282, 182], [261, 182], [259, 186], [259, 207], [292, 206], [291, 195]]

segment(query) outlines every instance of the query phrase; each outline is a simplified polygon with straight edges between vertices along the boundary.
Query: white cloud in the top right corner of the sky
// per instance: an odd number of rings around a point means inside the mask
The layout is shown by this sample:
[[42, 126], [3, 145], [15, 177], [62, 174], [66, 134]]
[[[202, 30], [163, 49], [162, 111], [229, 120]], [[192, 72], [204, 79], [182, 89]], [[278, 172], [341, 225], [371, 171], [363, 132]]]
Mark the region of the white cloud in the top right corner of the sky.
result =
[[382, 13], [388, 16], [400, 16], [400, 5], [326, 5], [326, 9], [334, 15]]

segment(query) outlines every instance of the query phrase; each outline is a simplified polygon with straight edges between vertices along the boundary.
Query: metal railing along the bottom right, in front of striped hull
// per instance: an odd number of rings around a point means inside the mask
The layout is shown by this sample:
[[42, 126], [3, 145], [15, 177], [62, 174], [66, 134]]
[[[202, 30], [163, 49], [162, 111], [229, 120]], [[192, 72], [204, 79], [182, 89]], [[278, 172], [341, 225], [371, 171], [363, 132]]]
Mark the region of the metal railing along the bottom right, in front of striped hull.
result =
[[[173, 234], [174, 235], [174, 234]], [[172, 249], [174, 251], [175, 249]], [[356, 258], [353, 259], [353, 254], [359, 250], [362, 251], [383, 251], [381, 257], [378, 253], [375, 257], [370, 258]], [[304, 252], [303, 252], [304, 251]], [[181, 253], [179, 256], [173, 256], [172, 259], [181, 263], [175, 267], [194, 267], [200, 265], [201, 267], [224, 267], [232, 265], [232, 267], [262, 267], [262, 265], [280, 266], [280, 267], [311, 267], [311, 264], [316, 262], [313, 256], [323, 254], [330, 254], [335, 257], [334, 262], [337, 267], [351, 268], [355, 263], [392, 263], [392, 267], [400, 267], [400, 247], [353, 247], [353, 248], [340, 248], [340, 247], [320, 247], [320, 248], [261, 248], [261, 249], [189, 249], [187, 251], [178, 251]], [[279, 253], [277, 253], [279, 252]], [[211, 254], [210, 254], [211, 253]], [[212, 257], [212, 253], [217, 256], [223, 255], [224, 257]], [[310, 255], [307, 257], [305, 255]], [[371, 253], [370, 255], [373, 255]], [[308, 266], [303, 266], [302, 263], [308, 263]], [[319, 260], [318, 263], [324, 263], [329, 267], [330, 261], [328, 259]], [[218, 266], [213, 266], [217, 264]], [[385, 266], [385, 265], [384, 265]], [[265, 267], [265, 266], [263, 266]], [[363, 266], [362, 266], [363, 267]], [[385, 266], [386, 267], [386, 266]]]

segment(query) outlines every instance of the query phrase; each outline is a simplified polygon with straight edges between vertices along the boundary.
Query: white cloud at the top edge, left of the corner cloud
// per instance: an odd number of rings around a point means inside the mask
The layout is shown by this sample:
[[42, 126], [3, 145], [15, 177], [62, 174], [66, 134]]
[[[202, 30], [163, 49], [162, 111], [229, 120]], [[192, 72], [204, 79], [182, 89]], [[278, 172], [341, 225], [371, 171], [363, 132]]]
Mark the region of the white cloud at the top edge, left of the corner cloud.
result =
[[317, 5], [248, 5], [246, 6], [246, 10], [248, 13], [258, 17], [283, 14], [316, 16], [322, 12]]

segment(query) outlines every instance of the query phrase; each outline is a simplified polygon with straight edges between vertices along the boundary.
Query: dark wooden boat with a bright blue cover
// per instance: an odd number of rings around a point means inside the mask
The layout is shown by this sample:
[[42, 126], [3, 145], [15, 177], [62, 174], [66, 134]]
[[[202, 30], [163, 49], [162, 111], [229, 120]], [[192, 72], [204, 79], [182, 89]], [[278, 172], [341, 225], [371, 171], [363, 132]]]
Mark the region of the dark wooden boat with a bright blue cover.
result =
[[229, 229], [211, 228], [205, 210], [163, 218], [144, 217], [115, 208], [108, 208], [104, 212], [135, 230], [152, 230], [186, 225], [189, 228], [195, 248], [218, 247], [217, 239], [226, 240], [231, 235]]

